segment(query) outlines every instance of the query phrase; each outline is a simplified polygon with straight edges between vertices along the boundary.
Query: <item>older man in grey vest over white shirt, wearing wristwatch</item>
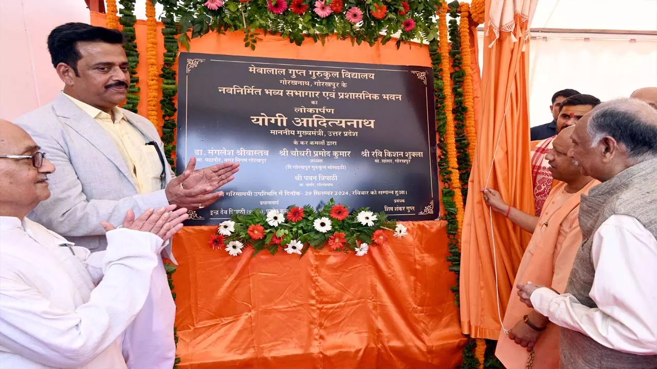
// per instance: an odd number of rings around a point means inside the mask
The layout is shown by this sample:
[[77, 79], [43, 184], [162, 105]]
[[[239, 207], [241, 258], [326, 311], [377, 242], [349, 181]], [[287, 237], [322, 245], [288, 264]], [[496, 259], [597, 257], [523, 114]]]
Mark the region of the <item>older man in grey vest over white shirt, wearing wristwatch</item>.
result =
[[605, 102], [571, 139], [569, 156], [602, 184], [581, 199], [583, 242], [566, 293], [528, 283], [518, 295], [568, 328], [562, 368], [657, 368], [657, 110]]

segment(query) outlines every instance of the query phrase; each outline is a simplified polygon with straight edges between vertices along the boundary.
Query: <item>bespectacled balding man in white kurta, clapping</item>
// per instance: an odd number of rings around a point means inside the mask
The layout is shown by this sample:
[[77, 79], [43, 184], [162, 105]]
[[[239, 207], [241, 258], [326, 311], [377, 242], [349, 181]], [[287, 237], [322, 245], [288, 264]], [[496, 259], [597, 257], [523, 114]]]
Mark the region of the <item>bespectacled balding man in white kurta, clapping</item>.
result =
[[104, 223], [107, 249], [91, 254], [26, 218], [50, 196], [44, 155], [0, 119], [0, 368], [127, 368], [122, 336], [187, 209], [130, 210], [121, 229]]

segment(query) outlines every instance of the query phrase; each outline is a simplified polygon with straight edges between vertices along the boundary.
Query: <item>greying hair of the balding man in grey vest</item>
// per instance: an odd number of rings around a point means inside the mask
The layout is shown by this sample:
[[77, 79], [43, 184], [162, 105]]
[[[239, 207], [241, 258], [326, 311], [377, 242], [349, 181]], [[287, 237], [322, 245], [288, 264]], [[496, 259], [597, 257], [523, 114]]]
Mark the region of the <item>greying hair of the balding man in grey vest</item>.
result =
[[619, 98], [601, 104], [589, 118], [591, 146], [605, 136], [625, 145], [627, 156], [642, 162], [657, 156], [657, 112], [635, 98]]

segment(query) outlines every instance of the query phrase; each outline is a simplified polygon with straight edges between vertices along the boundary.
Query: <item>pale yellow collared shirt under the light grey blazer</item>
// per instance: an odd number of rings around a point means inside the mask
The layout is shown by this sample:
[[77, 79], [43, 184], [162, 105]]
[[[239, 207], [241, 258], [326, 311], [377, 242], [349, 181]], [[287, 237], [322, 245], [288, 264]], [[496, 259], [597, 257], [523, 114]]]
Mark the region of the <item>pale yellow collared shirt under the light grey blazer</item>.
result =
[[135, 128], [116, 106], [112, 108], [112, 115], [93, 106], [72, 98], [66, 94], [80, 109], [95, 119], [101, 128], [112, 139], [116, 148], [132, 175], [132, 182], [140, 194], [147, 194], [162, 189], [160, 174], [162, 162], [157, 149], [146, 144], [146, 138]]

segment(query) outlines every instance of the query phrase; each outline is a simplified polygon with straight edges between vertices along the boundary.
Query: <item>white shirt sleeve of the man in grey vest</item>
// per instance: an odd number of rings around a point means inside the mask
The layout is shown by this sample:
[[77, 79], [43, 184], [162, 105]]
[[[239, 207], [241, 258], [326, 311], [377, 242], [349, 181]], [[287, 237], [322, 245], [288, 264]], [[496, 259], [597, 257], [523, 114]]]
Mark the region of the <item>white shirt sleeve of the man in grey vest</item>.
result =
[[657, 240], [634, 217], [612, 215], [593, 235], [591, 260], [597, 308], [547, 288], [532, 293], [534, 308], [610, 349], [657, 355]]

